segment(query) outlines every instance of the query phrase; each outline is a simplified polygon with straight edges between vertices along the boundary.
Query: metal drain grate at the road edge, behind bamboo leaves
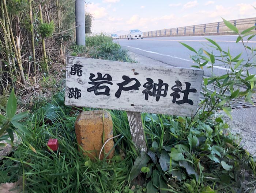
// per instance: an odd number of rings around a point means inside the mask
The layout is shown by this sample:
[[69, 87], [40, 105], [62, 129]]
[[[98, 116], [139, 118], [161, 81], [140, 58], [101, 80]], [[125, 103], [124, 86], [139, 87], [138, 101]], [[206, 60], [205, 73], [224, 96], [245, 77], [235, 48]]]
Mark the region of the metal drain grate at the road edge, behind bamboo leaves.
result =
[[[213, 84], [207, 85], [207, 90], [213, 92], [215, 90], [214, 85]], [[218, 93], [219, 91], [220, 91], [220, 88], [217, 88], [216, 92]], [[226, 92], [226, 95], [229, 96], [230, 92]], [[202, 92], [200, 92], [199, 99], [200, 101], [204, 100], [204, 95], [202, 94]], [[256, 105], [256, 98], [252, 97], [252, 102]], [[255, 105], [252, 105], [249, 102], [245, 102], [245, 97], [242, 97], [240, 99], [232, 99], [230, 101], [230, 104], [226, 104], [225, 106], [231, 107], [231, 109], [241, 109], [241, 108], [256, 107]]]

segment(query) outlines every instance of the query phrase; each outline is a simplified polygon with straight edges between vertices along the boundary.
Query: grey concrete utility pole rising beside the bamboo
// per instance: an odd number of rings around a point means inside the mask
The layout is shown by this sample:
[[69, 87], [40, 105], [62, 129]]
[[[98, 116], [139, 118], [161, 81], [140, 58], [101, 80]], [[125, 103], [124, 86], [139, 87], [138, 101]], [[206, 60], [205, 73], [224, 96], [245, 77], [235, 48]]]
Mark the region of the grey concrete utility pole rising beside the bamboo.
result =
[[76, 0], [76, 45], [85, 46], [84, 0]]

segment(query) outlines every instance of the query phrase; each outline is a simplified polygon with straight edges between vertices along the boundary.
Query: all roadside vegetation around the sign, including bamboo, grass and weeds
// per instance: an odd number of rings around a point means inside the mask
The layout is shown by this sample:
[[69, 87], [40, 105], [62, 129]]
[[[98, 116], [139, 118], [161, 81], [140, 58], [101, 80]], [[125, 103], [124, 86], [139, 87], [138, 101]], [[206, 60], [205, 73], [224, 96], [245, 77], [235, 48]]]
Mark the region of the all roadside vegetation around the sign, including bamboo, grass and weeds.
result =
[[[31, 6], [37, 18], [33, 19], [36, 37], [34, 60], [33, 46], [27, 43], [31, 43], [32, 26], [25, 22], [31, 10], [29, 4], [23, 0], [0, 2], [1, 10], [4, 10], [0, 19], [0, 146], [12, 146], [12, 151], [0, 160], [0, 183], [17, 182], [21, 192], [34, 193], [255, 192], [255, 155], [242, 149], [239, 139], [230, 133], [229, 125], [221, 115], [216, 114], [223, 110], [230, 116], [228, 104], [232, 99], [244, 98], [251, 101], [251, 95], [255, 93], [256, 78], [249, 73], [249, 69], [255, 67], [256, 49], [246, 44], [255, 36], [255, 26], [238, 32], [234, 25], [224, 20], [227, 27], [237, 32], [237, 42], [242, 42], [248, 53], [246, 59], [240, 58], [241, 54], [232, 56], [229, 50], [222, 50], [210, 39], [207, 39], [208, 50], [201, 48], [196, 51], [182, 43], [195, 53], [191, 56], [195, 62], [193, 67], [212, 69], [214, 65], [222, 65], [227, 69], [227, 74], [212, 74], [212, 77], [204, 78], [202, 92], [205, 99], [199, 104], [194, 117], [142, 113], [147, 153], [136, 151], [126, 112], [110, 111], [113, 135], [121, 134], [114, 139], [114, 157], [93, 162], [83, 155], [74, 129], [79, 112], [93, 109], [64, 105], [64, 54], [123, 62], [136, 61], [104, 34], [87, 36], [86, 47], [72, 44], [74, 21], [69, 16], [74, 12], [68, 14], [59, 10], [73, 10], [70, 7], [72, 1], [64, 3], [62, 0], [56, 1], [59, 3], [57, 8], [54, 7], [57, 11], [44, 9], [50, 6], [48, 4], [42, 6], [43, 18], [47, 18], [47, 15], [59, 18], [52, 23], [37, 23], [40, 12], [35, 10], [39, 2]], [[24, 41], [20, 44], [22, 57], [19, 57], [18, 47], [15, 53], [16, 44], [6, 26], [7, 15], [15, 16], [9, 17], [11, 27], [8, 28], [13, 32], [20, 29], [19, 35], [23, 37], [20, 38], [20, 41]], [[14, 22], [18, 16], [24, 21], [19, 26]], [[65, 22], [67, 25], [64, 25]], [[42, 39], [45, 39], [46, 57]], [[19, 64], [23, 65], [23, 73]], [[213, 85], [213, 91], [207, 89], [209, 84]], [[46, 144], [49, 138], [59, 140], [58, 151], [48, 149]]]

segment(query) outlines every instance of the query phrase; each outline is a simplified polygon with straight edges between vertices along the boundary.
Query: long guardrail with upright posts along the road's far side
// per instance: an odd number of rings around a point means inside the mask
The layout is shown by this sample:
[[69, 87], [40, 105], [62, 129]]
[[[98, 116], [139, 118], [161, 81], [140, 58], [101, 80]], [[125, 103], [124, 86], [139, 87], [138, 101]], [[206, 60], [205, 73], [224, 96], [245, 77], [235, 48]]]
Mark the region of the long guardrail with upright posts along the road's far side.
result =
[[[230, 20], [239, 31], [255, 25], [256, 30], [256, 17], [248, 19]], [[165, 37], [165, 36], [196, 36], [196, 35], [230, 35], [233, 34], [223, 21], [217, 23], [208, 23], [200, 25], [190, 25], [186, 27], [177, 27], [170, 29], [160, 29], [155, 31], [143, 32], [144, 38], [150, 37]], [[127, 38], [127, 35], [119, 36], [120, 39]]]

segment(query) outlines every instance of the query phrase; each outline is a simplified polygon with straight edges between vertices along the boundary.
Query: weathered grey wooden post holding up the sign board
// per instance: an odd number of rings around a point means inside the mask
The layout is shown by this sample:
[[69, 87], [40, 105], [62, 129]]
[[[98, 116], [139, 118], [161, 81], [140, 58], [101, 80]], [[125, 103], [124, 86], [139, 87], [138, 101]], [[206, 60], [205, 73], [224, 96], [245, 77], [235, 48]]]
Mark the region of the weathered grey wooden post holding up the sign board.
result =
[[127, 117], [132, 134], [132, 141], [135, 143], [138, 150], [147, 152], [147, 145], [144, 137], [142, 119], [139, 112], [127, 111]]

